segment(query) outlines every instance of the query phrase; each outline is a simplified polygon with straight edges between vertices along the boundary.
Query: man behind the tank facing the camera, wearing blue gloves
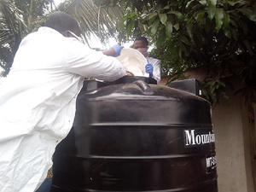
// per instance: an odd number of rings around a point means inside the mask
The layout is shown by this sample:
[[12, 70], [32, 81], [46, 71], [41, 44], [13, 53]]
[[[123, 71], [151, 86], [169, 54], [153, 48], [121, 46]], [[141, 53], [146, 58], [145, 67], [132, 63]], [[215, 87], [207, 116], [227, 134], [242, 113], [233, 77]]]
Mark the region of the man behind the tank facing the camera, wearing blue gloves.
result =
[[149, 73], [149, 77], [160, 82], [161, 79], [161, 62], [148, 56], [148, 39], [145, 37], [137, 37], [133, 42], [133, 49], [140, 51], [148, 61], [145, 66], [146, 73]]

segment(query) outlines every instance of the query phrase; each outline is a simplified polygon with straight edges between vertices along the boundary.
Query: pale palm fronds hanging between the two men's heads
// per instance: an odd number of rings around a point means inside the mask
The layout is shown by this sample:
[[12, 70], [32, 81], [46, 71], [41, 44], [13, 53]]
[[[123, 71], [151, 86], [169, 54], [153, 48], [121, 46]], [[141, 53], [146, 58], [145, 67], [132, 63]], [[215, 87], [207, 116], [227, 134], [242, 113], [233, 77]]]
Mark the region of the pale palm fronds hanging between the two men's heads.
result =
[[[66, 0], [61, 3], [58, 9], [72, 15], [79, 21], [87, 44], [89, 44], [92, 35], [100, 38], [103, 44], [107, 43], [109, 38], [116, 38], [121, 42], [122, 38], [125, 37], [121, 32], [124, 10], [119, 6], [119, 1]], [[127, 15], [127, 26], [131, 28], [132, 23], [129, 20], [132, 20], [132, 14], [129, 15], [127, 12]]]

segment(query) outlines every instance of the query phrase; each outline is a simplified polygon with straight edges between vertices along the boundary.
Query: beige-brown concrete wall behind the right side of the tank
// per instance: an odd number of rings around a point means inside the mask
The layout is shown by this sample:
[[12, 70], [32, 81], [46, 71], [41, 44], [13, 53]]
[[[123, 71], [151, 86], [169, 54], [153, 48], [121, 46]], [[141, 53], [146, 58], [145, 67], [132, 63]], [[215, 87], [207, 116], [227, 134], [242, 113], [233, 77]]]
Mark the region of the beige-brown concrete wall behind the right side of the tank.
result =
[[[203, 72], [192, 71], [189, 78], [204, 79]], [[160, 84], [166, 84], [163, 78]], [[238, 82], [237, 82], [238, 83]], [[248, 108], [241, 96], [228, 91], [229, 101], [224, 98], [212, 108], [212, 124], [216, 138], [218, 192], [255, 192], [253, 154]]]

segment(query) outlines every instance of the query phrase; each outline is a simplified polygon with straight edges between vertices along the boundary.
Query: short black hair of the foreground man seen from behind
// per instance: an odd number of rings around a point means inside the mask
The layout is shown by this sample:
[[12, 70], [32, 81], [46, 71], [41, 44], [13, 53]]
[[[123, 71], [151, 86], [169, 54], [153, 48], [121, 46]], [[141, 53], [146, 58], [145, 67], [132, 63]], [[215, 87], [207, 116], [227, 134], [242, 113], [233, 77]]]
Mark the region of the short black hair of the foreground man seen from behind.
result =
[[71, 15], [62, 11], [55, 11], [47, 17], [44, 26], [48, 26], [63, 34], [67, 30], [76, 30], [79, 24]]

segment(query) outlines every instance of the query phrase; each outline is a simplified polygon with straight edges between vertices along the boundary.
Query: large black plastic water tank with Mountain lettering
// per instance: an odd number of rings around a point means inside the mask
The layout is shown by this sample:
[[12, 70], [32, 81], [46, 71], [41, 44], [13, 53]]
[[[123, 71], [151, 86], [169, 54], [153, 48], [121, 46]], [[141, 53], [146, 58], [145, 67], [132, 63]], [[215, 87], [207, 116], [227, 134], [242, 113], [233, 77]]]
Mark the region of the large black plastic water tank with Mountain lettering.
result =
[[51, 191], [217, 192], [210, 103], [125, 79], [84, 82], [73, 129], [55, 151]]

